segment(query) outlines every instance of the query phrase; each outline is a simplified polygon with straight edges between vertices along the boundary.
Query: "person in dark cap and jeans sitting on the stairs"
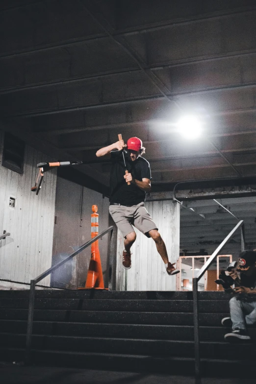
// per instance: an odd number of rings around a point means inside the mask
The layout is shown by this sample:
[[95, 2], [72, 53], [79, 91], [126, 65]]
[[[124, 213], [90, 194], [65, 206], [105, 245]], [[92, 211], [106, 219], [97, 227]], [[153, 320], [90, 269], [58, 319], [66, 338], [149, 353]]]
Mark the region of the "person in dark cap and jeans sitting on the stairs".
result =
[[[240, 272], [240, 277], [236, 271]], [[229, 275], [236, 286], [234, 290], [225, 289], [231, 291], [233, 297], [230, 299], [230, 317], [221, 322], [224, 326], [232, 326], [232, 332], [224, 337], [230, 342], [250, 340], [246, 326], [256, 323], [256, 252], [242, 252], [237, 269], [232, 269]]]

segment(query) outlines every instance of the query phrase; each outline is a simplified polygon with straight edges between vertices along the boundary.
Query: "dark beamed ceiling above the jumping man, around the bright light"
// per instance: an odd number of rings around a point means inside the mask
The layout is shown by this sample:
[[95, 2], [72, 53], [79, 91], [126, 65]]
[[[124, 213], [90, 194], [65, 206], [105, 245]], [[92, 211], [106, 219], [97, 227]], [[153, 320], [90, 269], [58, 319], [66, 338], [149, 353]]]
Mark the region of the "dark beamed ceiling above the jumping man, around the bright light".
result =
[[[87, 162], [79, 171], [105, 185], [110, 164], [95, 153], [118, 133], [142, 139], [153, 185], [255, 175], [256, 0], [6, 0], [0, 10], [3, 129]], [[175, 131], [187, 113], [204, 121], [200, 140]]]

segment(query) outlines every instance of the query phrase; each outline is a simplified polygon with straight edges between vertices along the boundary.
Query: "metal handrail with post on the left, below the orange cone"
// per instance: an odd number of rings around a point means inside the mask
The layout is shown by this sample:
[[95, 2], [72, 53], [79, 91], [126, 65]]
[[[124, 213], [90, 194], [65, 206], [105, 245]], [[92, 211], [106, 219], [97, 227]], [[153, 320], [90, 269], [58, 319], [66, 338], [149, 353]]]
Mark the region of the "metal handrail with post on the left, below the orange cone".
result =
[[[33, 315], [34, 315], [34, 304], [35, 304], [35, 286], [37, 282], [40, 282], [46, 276], [50, 275], [51, 272], [55, 271], [57, 268], [61, 267], [63, 264], [71, 260], [74, 256], [78, 255], [85, 248], [89, 247], [96, 240], [100, 239], [106, 233], [111, 232], [110, 239], [112, 239], [114, 226], [108, 227], [106, 230], [103, 230], [100, 234], [92, 238], [90, 241], [84, 243], [81, 247], [77, 249], [77, 251], [73, 252], [70, 256], [66, 257], [64, 260], [58, 262], [53, 265], [47, 271], [43, 272], [41, 275], [36, 277], [33, 280], [30, 280], [30, 291], [29, 291], [29, 303], [28, 303], [28, 317], [27, 317], [27, 331], [26, 331], [26, 355], [25, 362], [29, 364], [31, 361], [31, 342], [32, 342], [32, 326], [33, 326]], [[6, 234], [6, 233], [5, 233]], [[113, 248], [113, 247], [112, 247]], [[111, 252], [111, 251], [110, 251]], [[112, 255], [113, 256], [113, 255]], [[111, 285], [112, 286], [112, 285]]]

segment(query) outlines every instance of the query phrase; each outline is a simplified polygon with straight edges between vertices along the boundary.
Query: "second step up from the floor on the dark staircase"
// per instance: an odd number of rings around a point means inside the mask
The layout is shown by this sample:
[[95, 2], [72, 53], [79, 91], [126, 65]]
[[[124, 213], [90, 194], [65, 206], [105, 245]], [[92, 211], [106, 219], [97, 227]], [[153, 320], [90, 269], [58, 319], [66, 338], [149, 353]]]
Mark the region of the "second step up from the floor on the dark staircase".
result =
[[[23, 348], [26, 334], [0, 333], [2, 345], [9, 348]], [[194, 357], [194, 341], [183, 340], [148, 340], [109, 337], [48, 336], [35, 334], [32, 348], [37, 350], [61, 350], [92, 353], [115, 353], [151, 356]], [[252, 343], [239, 344], [241, 359], [254, 359], [255, 346]], [[204, 358], [237, 359], [237, 351], [226, 342], [202, 342], [201, 353]]]

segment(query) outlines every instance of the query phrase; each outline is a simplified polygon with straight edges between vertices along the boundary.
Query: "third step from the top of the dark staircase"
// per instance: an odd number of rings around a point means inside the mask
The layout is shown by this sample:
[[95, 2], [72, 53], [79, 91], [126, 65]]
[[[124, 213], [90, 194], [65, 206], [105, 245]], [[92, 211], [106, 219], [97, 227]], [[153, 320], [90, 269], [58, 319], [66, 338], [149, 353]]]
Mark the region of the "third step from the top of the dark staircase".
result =
[[[24, 308], [1, 308], [2, 320], [27, 320], [28, 310]], [[219, 326], [226, 313], [200, 313], [200, 325]], [[193, 325], [193, 313], [189, 312], [129, 312], [129, 311], [91, 311], [65, 309], [35, 309], [34, 320], [71, 321], [85, 323], [119, 323], [119, 324], [159, 324], [159, 325]]]

